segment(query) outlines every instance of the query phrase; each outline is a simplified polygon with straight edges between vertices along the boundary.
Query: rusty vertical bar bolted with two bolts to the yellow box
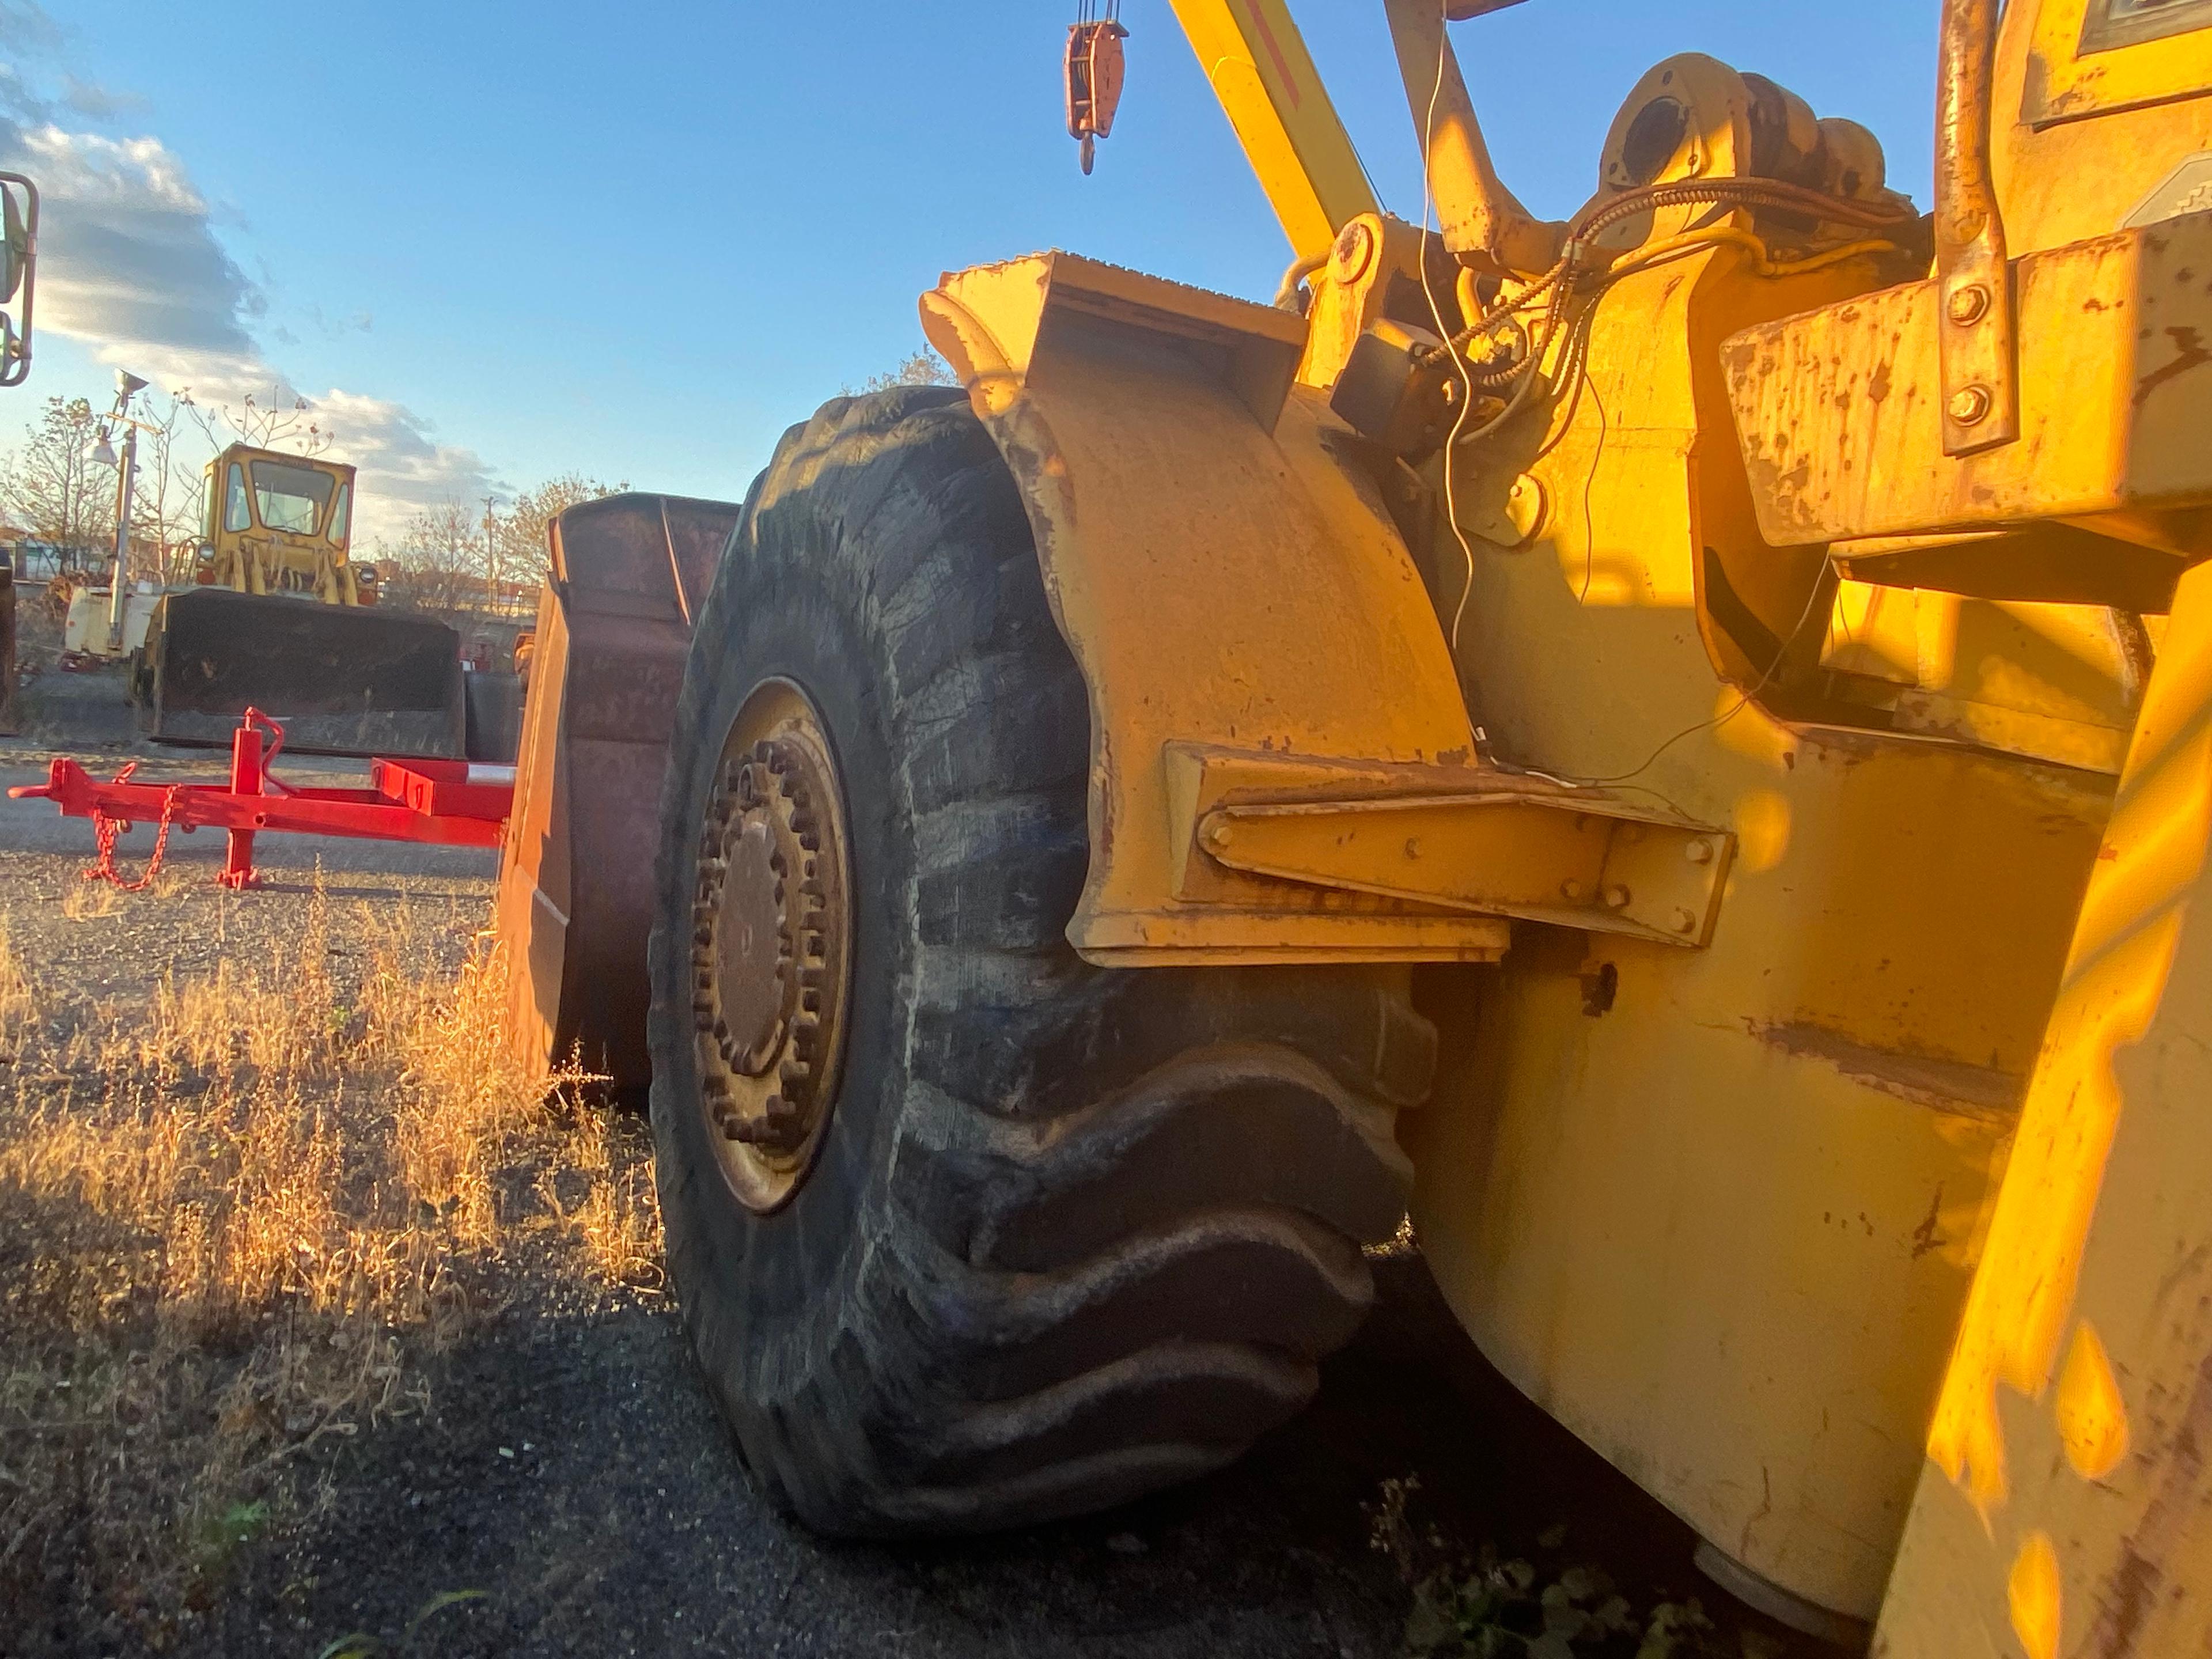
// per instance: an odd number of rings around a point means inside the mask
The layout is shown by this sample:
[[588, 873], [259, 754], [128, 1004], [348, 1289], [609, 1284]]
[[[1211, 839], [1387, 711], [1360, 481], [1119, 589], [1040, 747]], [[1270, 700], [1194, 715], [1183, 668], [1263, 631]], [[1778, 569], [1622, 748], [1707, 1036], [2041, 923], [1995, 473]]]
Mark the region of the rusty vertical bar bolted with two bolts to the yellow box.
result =
[[1942, 451], [1971, 456], [2020, 436], [2013, 265], [1989, 175], [1997, 0], [1944, 0], [1936, 111], [1936, 321]]

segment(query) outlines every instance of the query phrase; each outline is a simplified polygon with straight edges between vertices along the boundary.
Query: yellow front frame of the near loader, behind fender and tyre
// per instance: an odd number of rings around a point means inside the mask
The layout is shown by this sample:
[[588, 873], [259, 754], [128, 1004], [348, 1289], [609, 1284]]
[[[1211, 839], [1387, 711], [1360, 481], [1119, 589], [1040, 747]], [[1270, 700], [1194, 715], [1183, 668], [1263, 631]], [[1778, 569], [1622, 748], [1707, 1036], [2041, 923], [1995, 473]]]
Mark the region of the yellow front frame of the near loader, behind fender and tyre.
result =
[[[1871, 1617], [2110, 785], [1717, 684], [1708, 551], [1739, 593], [1792, 560], [1728, 447], [1719, 345], [1851, 281], [1728, 252], [1624, 276], [1573, 418], [1458, 458], [1462, 513], [1504, 520], [1520, 476], [1553, 504], [1469, 538], [1491, 743], [1736, 849], [1705, 949], [1517, 929], [1495, 973], [1433, 975], [1451, 1046], [1405, 1139], [1486, 1358], [1739, 1564]], [[1816, 639], [1805, 577], [1767, 599], [1776, 639]]]

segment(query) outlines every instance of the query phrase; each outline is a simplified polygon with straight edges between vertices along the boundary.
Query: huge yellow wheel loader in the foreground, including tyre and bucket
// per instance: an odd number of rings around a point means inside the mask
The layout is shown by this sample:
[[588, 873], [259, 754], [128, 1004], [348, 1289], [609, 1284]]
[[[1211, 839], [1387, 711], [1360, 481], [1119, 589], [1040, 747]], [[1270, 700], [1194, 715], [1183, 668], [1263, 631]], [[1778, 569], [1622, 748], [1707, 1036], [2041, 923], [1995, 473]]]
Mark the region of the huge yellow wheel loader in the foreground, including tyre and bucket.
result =
[[2203, 1652], [2212, 4], [1944, 0], [1933, 215], [1670, 58], [1564, 223], [1460, 77], [1491, 9], [1383, 4], [1440, 228], [1279, 0], [1175, 0], [1276, 305], [953, 272], [960, 389], [564, 520], [515, 1040], [650, 1077], [812, 1526], [1234, 1458], [1409, 1210], [1739, 1595]]

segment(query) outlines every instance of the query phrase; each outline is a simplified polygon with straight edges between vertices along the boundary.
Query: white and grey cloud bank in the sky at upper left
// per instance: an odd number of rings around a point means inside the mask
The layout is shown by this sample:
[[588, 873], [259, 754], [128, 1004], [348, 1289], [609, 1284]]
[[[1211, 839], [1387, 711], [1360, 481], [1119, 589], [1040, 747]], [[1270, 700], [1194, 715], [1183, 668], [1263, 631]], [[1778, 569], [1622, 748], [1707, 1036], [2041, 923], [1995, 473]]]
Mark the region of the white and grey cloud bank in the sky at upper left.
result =
[[[35, 7], [0, 0], [0, 46], [40, 29], [51, 22]], [[77, 82], [69, 104], [80, 113], [126, 106]], [[38, 332], [84, 341], [102, 363], [190, 392], [201, 407], [248, 394], [261, 407], [272, 398], [290, 407], [305, 396], [310, 418], [334, 438], [330, 456], [361, 469], [356, 535], [365, 544], [396, 535], [425, 507], [502, 493], [482, 456], [440, 442], [407, 405], [294, 387], [257, 338], [268, 299], [223, 250], [184, 161], [157, 137], [69, 131], [55, 115], [0, 66], [0, 168], [33, 177], [42, 197]]]

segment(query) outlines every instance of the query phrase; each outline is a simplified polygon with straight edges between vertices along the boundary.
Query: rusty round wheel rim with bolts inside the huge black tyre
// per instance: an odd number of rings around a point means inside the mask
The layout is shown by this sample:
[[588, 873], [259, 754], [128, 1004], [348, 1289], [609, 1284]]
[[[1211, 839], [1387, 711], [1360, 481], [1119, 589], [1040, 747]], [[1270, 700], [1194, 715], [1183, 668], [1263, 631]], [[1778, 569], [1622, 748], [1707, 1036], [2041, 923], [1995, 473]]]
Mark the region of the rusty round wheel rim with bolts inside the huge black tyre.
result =
[[852, 964], [845, 790], [807, 695], [765, 679], [721, 745], [692, 898], [699, 1110], [750, 1210], [787, 1203], [836, 1104]]

